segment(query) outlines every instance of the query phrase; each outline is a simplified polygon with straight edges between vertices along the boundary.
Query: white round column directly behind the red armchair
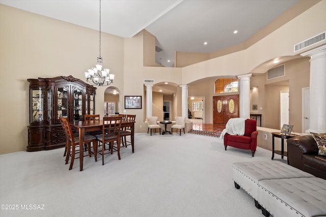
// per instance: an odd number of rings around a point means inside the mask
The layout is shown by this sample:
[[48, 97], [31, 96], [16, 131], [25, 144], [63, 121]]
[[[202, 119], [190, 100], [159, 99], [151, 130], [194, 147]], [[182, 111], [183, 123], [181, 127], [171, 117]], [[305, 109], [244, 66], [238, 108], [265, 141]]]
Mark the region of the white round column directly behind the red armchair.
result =
[[239, 75], [240, 102], [239, 117], [250, 118], [250, 78], [252, 74]]

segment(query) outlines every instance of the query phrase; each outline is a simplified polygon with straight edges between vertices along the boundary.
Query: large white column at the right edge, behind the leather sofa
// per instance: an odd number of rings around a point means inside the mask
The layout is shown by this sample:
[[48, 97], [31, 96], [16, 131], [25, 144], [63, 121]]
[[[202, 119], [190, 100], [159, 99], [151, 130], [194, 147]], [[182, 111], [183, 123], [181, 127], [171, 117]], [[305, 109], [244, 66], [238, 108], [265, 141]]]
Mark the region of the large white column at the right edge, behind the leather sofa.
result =
[[301, 54], [310, 56], [310, 112], [307, 134], [326, 132], [326, 45]]

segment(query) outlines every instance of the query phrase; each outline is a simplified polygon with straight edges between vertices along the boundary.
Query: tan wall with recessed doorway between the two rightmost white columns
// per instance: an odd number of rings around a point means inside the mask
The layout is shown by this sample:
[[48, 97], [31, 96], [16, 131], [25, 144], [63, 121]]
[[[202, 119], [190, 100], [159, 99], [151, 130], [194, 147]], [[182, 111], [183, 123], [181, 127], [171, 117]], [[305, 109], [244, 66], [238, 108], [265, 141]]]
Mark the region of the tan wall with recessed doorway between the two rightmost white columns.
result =
[[[289, 122], [293, 125], [293, 131], [302, 131], [302, 88], [309, 87], [309, 72], [309, 57], [303, 57], [285, 63], [285, 76], [268, 81], [266, 74], [251, 78], [251, 87], [258, 87], [258, 113], [262, 114], [263, 127], [280, 128], [280, 91], [289, 90]], [[284, 81], [288, 81], [289, 86], [279, 85]]]

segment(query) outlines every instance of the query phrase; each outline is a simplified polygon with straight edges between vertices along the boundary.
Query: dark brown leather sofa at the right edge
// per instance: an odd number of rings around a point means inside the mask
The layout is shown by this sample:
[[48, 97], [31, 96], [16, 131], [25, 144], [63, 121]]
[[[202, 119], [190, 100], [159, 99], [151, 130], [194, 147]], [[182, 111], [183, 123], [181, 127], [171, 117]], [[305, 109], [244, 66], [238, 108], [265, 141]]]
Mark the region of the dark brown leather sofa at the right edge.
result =
[[326, 156], [318, 155], [312, 136], [298, 136], [287, 140], [287, 158], [293, 167], [326, 179]]

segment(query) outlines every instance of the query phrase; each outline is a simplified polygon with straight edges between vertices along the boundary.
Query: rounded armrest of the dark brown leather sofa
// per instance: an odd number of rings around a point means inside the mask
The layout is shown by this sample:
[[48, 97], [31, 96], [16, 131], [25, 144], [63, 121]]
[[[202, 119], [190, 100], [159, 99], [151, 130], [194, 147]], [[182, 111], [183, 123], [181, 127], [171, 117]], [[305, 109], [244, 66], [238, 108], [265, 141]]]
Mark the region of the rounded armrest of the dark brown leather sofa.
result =
[[287, 140], [287, 145], [297, 147], [302, 154], [318, 154], [318, 146], [312, 136], [297, 136]]

